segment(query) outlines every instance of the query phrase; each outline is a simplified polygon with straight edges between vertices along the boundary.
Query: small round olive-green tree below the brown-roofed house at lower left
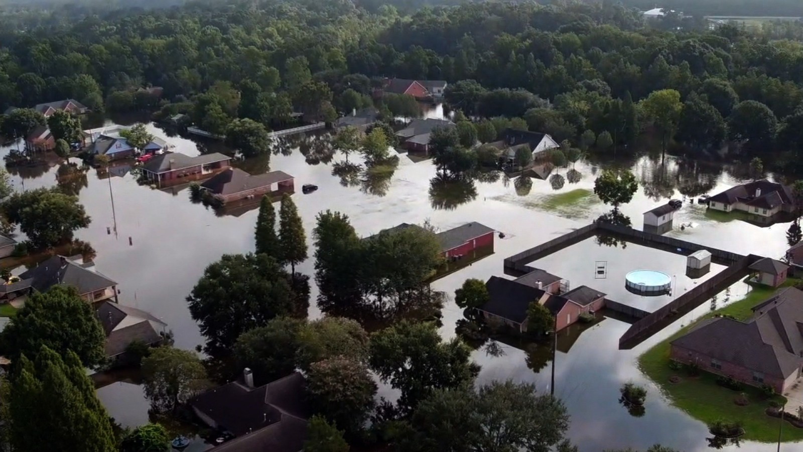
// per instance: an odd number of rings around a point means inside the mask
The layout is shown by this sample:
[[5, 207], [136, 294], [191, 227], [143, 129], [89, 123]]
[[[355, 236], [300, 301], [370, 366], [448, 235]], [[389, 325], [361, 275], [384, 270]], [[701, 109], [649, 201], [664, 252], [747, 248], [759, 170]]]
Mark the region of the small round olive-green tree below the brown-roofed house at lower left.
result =
[[175, 413], [206, 388], [206, 369], [192, 351], [157, 347], [142, 360], [142, 387], [157, 413]]

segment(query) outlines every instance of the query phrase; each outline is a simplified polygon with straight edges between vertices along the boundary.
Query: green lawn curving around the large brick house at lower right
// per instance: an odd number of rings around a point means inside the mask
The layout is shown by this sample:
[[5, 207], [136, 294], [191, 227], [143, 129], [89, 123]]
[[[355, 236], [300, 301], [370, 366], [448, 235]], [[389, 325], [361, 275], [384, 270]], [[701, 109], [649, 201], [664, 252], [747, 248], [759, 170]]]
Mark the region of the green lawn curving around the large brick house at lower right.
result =
[[[797, 280], [789, 280], [785, 286], [793, 285]], [[748, 318], [752, 311], [750, 308], [772, 294], [774, 290], [755, 287], [748, 295], [738, 302], [733, 302], [722, 309], [708, 313], [699, 318], [710, 318], [714, 314], [727, 314], [736, 318]], [[695, 323], [696, 323], [695, 322]], [[724, 419], [725, 421], [741, 421], [744, 424], [744, 439], [758, 442], [776, 442], [778, 439], [778, 422], [774, 417], [769, 417], [764, 413], [768, 407], [769, 400], [765, 399], [760, 391], [749, 386], [744, 387], [744, 393], [750, 401], [747, 406], [739, 406], [733, 403], [739, 392], [723, 388], [716, 384], [715, 376], [706, 372], [701, 372], [699, 377], [691, 377], [685, 370], [672, 370], [669, 368], [669, 343], [671, 340], [683, 335], [691, 327], [684, 327], [669, 339], [658, 343], [643, 355], [638, 357], [638, 367], [654, 380], [662, 389], [662, 392], [679, 409], [689, 413], [692, 417], [710, 424], [713, 421]], [[671, 384], [669, 378], [679, 376], [678, 384]], [[773, 400], [783, 404], [784, 397], [777, 396]], [[785, 423], [783, 429], [783, 441], [803, 440], [803, 429], [797, 429]]]

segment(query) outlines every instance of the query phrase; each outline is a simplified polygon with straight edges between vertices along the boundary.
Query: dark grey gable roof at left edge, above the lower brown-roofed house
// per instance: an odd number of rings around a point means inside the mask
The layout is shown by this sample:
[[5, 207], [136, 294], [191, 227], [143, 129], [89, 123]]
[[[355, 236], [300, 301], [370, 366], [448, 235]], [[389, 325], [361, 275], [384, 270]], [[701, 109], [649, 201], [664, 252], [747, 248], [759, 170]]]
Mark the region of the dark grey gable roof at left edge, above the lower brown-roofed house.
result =
[[66, 284], [75, 287], [79, 294], [83, 295], [117, 285], [116, 281], [103, 274], [84, 268], [63, 256], [51, 257], [39, 266], [26, 270], [19, 277], [22, 280], [31, 279], [31, 286], [39, 292], [45, 292], [52, 286]]

